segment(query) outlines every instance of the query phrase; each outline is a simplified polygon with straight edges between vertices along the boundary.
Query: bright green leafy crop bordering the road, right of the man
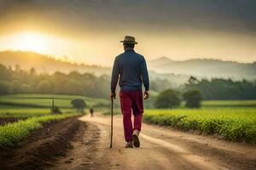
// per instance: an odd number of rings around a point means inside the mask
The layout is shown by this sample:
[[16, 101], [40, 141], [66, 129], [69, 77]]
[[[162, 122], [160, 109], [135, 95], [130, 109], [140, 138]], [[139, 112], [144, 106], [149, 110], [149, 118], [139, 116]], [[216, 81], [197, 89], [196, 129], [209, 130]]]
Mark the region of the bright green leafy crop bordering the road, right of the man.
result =
[[256, 108], [147, 110], [144, 121], [256, 144]]

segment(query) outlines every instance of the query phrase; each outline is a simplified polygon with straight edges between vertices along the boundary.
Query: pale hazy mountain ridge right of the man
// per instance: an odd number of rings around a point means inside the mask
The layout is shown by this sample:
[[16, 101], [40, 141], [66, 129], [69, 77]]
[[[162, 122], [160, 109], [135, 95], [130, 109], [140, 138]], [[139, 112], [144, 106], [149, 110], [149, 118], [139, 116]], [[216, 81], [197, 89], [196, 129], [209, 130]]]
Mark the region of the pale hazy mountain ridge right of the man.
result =
[[238, 63], [218, 59], [189, 59], [173, 61], [166, 57], [148, 61], [148, 68], [158, 73], [193, 75], [197, 77], [221, 77], [256, 79], [256, 63]]

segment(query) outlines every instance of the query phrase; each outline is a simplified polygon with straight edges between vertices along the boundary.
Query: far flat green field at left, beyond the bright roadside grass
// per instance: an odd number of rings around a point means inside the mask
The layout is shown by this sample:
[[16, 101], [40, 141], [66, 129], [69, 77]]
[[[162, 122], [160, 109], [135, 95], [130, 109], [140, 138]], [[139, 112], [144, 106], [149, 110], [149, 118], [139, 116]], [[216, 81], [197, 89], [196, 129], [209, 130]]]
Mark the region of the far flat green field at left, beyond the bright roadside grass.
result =
[[96, 109], [109, 106], [106, 99], [92, 99], [75, 95], [52, 94], [16, 94], [0, 96], [0, 117], [41, 116], [50, 113], [54, 99], [55, 106], [61, 108], [62, 113], [74, 112], [71, 105], [73, 99], [84, 99], [87, 107]]

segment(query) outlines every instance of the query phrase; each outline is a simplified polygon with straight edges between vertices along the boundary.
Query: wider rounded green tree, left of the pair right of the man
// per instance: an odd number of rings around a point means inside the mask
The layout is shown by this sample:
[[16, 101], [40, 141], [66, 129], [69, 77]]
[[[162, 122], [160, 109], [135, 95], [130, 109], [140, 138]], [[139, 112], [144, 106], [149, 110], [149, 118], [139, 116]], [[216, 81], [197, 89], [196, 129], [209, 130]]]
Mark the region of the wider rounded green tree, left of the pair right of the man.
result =
[[175, 108], [180, 104], [181, 99], [179, 98], [178, 92], [172, 89], [167, 89], [161, 92], [154, 103], [156, 108]]

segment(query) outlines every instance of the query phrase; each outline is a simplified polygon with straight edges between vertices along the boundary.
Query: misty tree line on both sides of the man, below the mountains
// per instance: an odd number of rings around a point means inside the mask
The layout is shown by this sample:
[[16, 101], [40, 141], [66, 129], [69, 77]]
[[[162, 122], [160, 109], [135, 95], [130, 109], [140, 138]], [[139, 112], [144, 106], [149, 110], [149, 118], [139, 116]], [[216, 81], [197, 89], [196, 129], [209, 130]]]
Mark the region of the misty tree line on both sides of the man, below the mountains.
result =
[[[161, 92], [168, 88], [167, 81], [150, 80], [150, 89]], [[56, 71], [54, 74], [40, 73], [32, 68], [23, 71], [19, 65], [7, 68], [0, 64], [0, 95], [4, 94], [71, 94], [105, 98], [109, 95], [110, 76], [96, 77], [90, 73], [72, 71], [68, 74]], [[211, 80], [190, 77], [177, 89], [182, 94], [198, 90], [202, 99], [256, 99], [256, 82], [233, 81], [221, 78]]]

